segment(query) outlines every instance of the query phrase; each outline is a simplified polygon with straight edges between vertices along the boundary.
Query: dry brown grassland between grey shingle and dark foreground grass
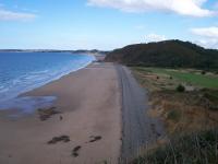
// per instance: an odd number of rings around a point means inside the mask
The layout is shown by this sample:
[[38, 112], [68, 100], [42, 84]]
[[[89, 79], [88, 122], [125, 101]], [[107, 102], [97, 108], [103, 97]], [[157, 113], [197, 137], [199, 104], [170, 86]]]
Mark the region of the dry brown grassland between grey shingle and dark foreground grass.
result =
[[185, 85], [186, 92], [178, 93], [175, 89], [181, 82], [170, 75], [135, 69], [133, 73], [149, 91], [149, 115], [164, 120], [169, 136], [218, 126], [218, 112], [210, 109], [211, 102], [197, 86]]

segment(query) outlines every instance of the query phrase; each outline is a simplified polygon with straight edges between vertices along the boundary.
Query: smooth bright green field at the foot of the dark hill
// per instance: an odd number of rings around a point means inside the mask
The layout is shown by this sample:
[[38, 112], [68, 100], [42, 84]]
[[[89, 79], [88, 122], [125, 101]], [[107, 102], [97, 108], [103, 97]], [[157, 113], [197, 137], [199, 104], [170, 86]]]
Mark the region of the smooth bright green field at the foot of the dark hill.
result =
[[146, 71], [156, 74], [167, 74], [181, 82], [186, 82], [192, 85], [207, 89], [218, 89], [218, 75], [201, 74], [185, 70], [160, 69], [160, 68], [135, 68], [138, 71]]

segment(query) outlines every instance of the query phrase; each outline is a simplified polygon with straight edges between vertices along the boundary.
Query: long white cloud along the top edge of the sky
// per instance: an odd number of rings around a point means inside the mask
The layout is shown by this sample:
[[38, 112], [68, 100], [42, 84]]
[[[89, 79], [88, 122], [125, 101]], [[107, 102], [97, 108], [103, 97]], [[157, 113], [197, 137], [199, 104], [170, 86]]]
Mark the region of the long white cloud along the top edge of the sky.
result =
[[190, 16], [210, 16], [215, 11], [202, 8], [207, 0], [88, 0], [89, 5], [114, 8], [126, 12], [160, 11]]

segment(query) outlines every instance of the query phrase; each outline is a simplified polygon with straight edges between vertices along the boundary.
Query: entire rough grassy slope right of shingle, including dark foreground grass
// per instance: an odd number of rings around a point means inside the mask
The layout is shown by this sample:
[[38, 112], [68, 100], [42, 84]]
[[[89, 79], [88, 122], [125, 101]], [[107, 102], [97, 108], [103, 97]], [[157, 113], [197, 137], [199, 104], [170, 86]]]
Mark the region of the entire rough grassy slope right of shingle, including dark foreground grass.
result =
[[146, 148], [133, 163], [218, 163], [218, 131], [211, 130], [218, 127], [218, 91], [183, 83], [186, 91], [181, 93], [181, 81], [169, 75], [133, 72], [149, 91], [149, 116], [164, 121], [169, 139]]

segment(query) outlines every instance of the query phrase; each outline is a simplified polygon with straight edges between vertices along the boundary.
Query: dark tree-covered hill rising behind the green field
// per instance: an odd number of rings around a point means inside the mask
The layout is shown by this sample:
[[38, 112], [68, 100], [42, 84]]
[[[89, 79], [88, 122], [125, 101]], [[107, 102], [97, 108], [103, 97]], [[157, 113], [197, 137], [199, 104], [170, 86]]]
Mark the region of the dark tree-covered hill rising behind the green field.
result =
[[109, 52], [106, 61], [129, 66], [218, 69], [218, 50], [189, 42], [165, 40], [130, 45]]

